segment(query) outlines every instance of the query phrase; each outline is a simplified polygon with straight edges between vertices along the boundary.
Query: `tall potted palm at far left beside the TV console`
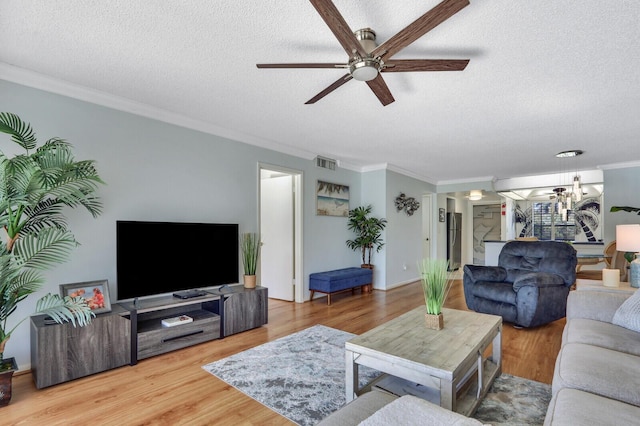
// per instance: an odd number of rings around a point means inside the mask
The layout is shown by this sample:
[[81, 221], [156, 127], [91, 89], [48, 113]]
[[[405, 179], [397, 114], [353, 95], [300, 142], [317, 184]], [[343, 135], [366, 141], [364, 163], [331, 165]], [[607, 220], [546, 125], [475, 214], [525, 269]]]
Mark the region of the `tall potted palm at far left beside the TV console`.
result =
[[[100, 214], [95, 193], [102, 180], [92, 161], [75, 161], [64, 140], [52, 138], [37, 147], [31, 125], [15, 114], [0, 113], [0, 132], [24, 150], [12, 158], [0, 151], [0, 227], [5, 231], [0, 239], [0, 405], [6, 405], [17, 367], [15, 359], [4, 358], [4, 349], [26, 318], [13, 325], [8, 319], [21, 301], [40, 290], [42, 271], [66, 261], [77, 246], [63, 209], [82, 206], [94, 217]], [[36, 313], [80, 326], [93, 316], [84, 299], [57, 294], [39, 299]]]

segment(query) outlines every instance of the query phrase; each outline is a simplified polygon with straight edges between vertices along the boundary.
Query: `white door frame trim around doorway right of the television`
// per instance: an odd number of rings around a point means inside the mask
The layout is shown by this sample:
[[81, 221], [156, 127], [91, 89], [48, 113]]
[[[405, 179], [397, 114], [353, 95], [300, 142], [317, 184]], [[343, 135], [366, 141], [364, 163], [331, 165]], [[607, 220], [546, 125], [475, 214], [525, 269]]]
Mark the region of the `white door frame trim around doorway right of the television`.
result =
[[281, 173], [286, 173], [292, 176], [293, 178], [293, 194], [294, 194], [294, 212], [293, 212], [293, 221], [294, 221], [294, 300], [297, 303], [304, 302], [304, 271], [303, 271], [303, 253], [302, 253], [302, 218], [303, 211], [303, 173], [301, 170], [290, 169], [282, 166], [275, 166], [273, 164], [267, 163], [258, 163], [258, 228], [260, 228], [260, 217], [261, 217], [261, 193], [260, 193], [260, 184], [261, 184], [261, 172], [262, 170], [273, 170]]

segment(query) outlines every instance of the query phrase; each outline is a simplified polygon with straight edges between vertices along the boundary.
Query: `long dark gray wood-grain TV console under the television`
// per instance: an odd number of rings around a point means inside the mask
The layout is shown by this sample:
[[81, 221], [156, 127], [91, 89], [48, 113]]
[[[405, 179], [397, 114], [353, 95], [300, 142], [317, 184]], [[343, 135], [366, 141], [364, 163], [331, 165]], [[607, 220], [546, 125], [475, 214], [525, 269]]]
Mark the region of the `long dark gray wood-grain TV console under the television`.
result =
[[[163, 327], [188, 315], [193, 322]], [[45, 325], [31, 317], [31, 369], [37, 388], [99, 373], [138, 360], [260, 327], [268, 320], [268, 289], [242, 284], [191, 299], [150, 297], [120, 302], [86, 327]]]

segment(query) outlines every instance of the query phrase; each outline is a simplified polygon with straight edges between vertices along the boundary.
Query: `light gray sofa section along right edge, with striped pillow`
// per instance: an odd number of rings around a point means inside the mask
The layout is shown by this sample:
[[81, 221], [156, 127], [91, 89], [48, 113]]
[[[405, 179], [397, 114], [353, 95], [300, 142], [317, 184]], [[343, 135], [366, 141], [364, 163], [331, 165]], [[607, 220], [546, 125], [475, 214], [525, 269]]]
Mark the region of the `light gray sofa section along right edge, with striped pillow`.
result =
[[639, 307], [640, 293], [569, 294], [546, 425], [640, 424]]

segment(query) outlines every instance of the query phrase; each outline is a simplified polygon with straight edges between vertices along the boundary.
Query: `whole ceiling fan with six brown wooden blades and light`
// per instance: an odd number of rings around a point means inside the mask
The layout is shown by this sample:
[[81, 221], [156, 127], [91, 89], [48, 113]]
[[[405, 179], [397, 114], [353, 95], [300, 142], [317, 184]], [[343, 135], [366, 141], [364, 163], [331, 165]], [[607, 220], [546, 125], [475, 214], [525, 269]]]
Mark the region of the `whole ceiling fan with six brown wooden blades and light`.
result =
[[352, 32], [331, 0], [310, 0], [322, 19], [336, 36], [342, 48], [349, 55], [345, 63], [291, 63], [256, 64], [258, 68], [346, 68], [348, 73], [340, 77], [326, 89], [309, 99], [313, 104], [327, 96], [351, 79], [365, 81], [382, 105], [389, 105], [395, 99], [381, 73], [413, 71], [462, 71], [468, 59], [391, 59], [393, 55], [446, 21], [464, 7], [469, 0], [444, 0], [399, 33], [376, 46], [376, 33], [371, 28]]

